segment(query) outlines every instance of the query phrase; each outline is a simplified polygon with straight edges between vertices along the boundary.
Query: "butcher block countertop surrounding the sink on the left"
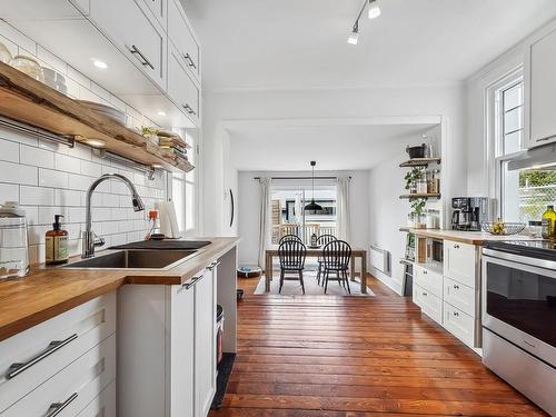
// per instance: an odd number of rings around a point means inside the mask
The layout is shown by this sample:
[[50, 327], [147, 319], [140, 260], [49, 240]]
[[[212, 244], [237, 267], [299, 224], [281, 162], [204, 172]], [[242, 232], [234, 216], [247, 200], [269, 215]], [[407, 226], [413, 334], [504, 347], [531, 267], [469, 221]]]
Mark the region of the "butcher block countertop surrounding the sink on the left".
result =
[[[239, 242], [238, 238], [202, 240], [210, 240], [211, 244], [199, 249], [190, 259], [163, 271], [38, 266], [24, 278], [0, 281], [0, 340], [126, 284], [182, 285]], [[79, 260], [79, 257], [70, 259], [70, 262], [72, 260]]]

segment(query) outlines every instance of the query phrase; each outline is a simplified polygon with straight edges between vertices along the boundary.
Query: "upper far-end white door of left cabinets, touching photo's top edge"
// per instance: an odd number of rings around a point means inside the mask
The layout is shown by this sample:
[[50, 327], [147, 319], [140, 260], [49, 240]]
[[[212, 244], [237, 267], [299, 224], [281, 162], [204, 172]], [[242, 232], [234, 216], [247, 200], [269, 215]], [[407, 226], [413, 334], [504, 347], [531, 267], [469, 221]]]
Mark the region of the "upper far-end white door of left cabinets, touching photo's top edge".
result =
[[200, 76], [200, 48], [189, 29], [189, 23], [177, 3], [178, 0], [168, 0], [168, 37], [176, 46], [180, 60], [189, 68], [195, 77]]

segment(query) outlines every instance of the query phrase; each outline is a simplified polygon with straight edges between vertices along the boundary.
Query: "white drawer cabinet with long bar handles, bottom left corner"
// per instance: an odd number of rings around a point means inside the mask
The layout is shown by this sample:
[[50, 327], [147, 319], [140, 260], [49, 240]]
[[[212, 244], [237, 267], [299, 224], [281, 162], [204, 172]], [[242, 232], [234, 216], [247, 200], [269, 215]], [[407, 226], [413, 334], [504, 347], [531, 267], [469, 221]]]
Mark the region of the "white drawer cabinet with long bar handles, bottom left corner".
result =
[[[46, 413], [42, 409], [44, 401], [63, 403], [73, 393], [85, 389], [87, 384], [93, 380], [98, 383], [100, 376], [107, 383], [110, 377], [113, 379], [116, 353], [111, 347], [115, 345], [106, 341], [115, 331], [116, 292], [111, 292], [0, 341], [0, 416], [33, 415], [18, 415], [20, 411], [17, 410], [24, 409], [21, 408], [22, 404], [32, 405], [33, 413], [42, 416]], [[102, 340], [105, 344], [100, 349]], [[90, 361], [79, 367], [83, 360], [99, 354], [103, 355], [99, 367], [87, 368], [96, 366]], [[82, 376], [86, 379], [80, 379]], [[54, 379], [58, 383], [51, 386]], [[89, 388], [95, 388], [95, 384]], [[57, 390], [62, 387], [66, 390]], [[34, 397], [30, 397], [31, 391], [43, 395], [36, 397], [37, 394], [33, 394]], [[92, 395], [92, 399], [98, 393], [92, 389], [88, 395]], [[72, 403], [81, 404], [85, 394], [80, 394], [80, 397]], [[29, 398], [33, 398], [32, 404]]]

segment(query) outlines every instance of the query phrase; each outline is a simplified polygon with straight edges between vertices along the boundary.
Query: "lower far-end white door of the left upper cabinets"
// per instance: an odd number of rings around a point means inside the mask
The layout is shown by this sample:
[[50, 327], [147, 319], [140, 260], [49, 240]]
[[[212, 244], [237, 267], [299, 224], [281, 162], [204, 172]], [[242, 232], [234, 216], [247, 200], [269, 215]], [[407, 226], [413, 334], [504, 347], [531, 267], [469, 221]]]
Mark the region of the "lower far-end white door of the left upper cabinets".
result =
[[199, 89], [189, 78], [178, 52], [170, 48], [168, 61], [168, 93], [176, 106], [196, 125], [199, 121]]

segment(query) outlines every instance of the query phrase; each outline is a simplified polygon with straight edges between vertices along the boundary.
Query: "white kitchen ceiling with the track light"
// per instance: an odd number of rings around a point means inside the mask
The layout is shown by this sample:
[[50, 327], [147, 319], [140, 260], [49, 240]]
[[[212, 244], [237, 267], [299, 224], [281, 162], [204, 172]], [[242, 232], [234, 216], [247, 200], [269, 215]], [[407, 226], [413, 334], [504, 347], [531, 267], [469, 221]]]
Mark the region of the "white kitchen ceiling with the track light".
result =
[[346, 42], [361, 0], [181, 0], [210, 89], [460, 81], [556, 16], [555, 0], [381, 0]]

